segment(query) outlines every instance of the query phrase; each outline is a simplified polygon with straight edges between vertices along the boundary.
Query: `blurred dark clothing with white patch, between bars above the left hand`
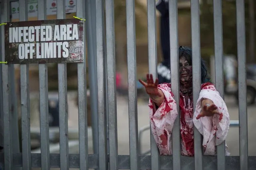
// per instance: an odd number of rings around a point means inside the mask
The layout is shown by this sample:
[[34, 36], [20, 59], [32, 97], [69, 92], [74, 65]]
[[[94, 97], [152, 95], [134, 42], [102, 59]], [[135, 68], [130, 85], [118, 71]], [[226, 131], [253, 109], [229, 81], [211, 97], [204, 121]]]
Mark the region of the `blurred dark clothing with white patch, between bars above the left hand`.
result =
[[169, 34], [169, 1], [158, 0], [156, 8], [161, 13], [160, 34], [163, 61], [157, 66], [159, 83], [170, 83], [170, 34]]

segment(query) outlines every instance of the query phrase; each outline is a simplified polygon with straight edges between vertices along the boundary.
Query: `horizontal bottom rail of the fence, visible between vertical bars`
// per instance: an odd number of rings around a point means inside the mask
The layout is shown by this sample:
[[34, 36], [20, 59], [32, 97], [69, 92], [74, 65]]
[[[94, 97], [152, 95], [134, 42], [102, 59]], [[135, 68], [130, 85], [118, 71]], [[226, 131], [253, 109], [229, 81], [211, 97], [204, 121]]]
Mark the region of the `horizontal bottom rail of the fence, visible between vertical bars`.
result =
[[[69, 168], [79, 168], [79, 154], [69, 154]], [[98, 155], [89, 154], [89, 168], [99, 168]], [[0, 161], [4, 161], [4, 154], [0, 153]], [[174, 170], [172, 168], [172, 156], [159, 156], [160, 170]], [[203, 156], [204, 170], [217, 169], [217, 156]], [[31, 154], [32, 167], [41, 167], [41, 155], [39, 153]], [[138, 164], [141, 170], [151, 169], [151, 156], [139, 155]], [[181, 156], [182, 168], [181, 170], [194, 170], [194, 158]], [[239, 156], [226, 156], [226, 170], [240, 170]], [[22, 154], [13, 154], [13, 166], [22, 167]], [[118, 155], [118, 169], [130, 169], [130, 156]], [[248, 156], [249, 170], [256, 168], [256, 156]], [[60, 168], [60, 154], [50, 154], [50, 168]]]

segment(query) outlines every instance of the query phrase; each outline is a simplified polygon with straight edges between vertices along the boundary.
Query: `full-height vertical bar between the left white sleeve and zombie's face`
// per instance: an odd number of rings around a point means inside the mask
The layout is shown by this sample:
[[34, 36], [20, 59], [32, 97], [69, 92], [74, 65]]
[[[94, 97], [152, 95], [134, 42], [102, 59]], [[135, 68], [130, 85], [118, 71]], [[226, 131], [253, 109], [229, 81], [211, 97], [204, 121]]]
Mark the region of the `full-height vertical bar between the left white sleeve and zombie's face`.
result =
[[170, 54], [171, 54], [171, 91], [177, 103], [178, 115], [173, 125], [173, 169], [181, 169], [181, 145], [180, 145], [180, 113], [179, 113], [179, 39], [178, 39], [178, 9], [177, 0], [169, 1], [170, 24]]

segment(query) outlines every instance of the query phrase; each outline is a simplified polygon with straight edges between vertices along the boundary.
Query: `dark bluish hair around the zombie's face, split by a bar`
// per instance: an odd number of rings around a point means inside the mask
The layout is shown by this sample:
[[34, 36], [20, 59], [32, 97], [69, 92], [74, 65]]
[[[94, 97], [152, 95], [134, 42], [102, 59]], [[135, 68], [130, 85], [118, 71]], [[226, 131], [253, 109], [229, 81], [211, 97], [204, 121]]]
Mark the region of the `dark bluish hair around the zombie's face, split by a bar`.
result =
[[[192, 65], [192, 49], [190, 47], [179, 46], [179, 58], [180, 57], [184, 57], [184, 59]], [[206, 61], [201, 58], [201, 83], [210, 82], [210, 79], [211, 77], [206, 65]]]

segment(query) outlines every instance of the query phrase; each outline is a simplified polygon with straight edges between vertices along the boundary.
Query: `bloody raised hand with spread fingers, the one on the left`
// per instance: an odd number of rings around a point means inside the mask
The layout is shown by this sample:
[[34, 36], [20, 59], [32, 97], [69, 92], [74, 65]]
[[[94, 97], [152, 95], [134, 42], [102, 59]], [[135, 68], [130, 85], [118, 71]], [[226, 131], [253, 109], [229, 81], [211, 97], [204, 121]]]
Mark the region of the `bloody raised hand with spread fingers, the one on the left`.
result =
[[141, 79], [139, 79], [139, 82], [145, 87], [147, 94], [161, 97], [161, 94], [159, 93], [157, 88], [158, 79], [155, 79], [155, 83], [154, 83], [152, 74], [150, 75], [147, 74], [147, 83], [145, 83]]

